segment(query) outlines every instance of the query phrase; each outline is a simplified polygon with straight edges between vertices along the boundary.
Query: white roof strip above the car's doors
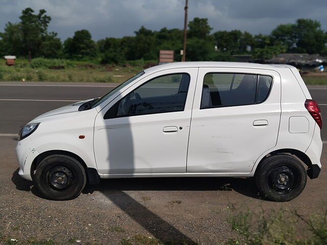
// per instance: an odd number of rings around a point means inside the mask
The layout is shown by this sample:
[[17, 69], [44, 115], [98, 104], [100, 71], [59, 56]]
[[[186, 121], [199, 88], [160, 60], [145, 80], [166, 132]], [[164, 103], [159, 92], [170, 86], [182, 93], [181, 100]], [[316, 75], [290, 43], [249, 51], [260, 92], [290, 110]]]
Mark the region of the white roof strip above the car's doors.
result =
[[258, 63], [246, 63], [246, 62], [174, 62], [162, 65], [156, 65], [144, 70], [144, 72], [151, 72], [154, 70], [172, 69], [172, 68], [188, 68], [188, 67], [239, 67], [239, 68], [293, 68], [294, 66], [286, 64], [258, 64]]

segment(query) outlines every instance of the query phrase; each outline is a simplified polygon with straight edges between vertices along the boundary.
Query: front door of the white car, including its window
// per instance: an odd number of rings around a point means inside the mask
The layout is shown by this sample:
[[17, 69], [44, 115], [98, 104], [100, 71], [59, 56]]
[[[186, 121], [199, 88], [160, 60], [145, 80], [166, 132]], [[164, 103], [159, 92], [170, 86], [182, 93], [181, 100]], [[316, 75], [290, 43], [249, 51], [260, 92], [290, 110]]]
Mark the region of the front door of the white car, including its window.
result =
[[197, 72], [145, 74], [100, 111], [94, 134], [100, 174], [185, 173]]

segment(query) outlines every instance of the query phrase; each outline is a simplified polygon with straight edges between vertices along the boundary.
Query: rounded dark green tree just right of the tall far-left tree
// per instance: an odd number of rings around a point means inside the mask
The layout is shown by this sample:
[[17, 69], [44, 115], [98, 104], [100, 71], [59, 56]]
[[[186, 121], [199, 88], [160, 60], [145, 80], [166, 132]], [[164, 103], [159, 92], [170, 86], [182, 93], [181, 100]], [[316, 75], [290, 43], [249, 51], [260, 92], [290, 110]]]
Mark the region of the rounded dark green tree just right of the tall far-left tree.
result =
[[95, 42], [87, 30], [76, 31], [73, 38], [64, 41], [64, 51], [69, 58], [81, 59], [97, 55]]

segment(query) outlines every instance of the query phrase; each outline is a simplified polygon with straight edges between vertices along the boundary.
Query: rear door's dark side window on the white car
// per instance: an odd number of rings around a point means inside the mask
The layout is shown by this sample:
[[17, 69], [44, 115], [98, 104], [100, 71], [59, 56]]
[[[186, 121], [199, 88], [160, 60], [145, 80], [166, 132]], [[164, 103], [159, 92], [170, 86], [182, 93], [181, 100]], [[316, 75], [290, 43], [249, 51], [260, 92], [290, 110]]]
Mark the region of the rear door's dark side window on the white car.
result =
[[204, 76], [200, 109], [263, 102], [272, 78], [255, 74], [208, 73]]

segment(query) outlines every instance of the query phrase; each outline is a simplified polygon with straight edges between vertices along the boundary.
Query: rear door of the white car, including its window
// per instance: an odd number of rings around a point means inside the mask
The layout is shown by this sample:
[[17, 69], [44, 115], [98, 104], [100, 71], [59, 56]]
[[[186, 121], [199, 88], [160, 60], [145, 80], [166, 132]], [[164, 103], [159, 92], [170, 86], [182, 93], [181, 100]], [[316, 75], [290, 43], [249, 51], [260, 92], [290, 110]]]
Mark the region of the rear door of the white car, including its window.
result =
[[188, 173], [248, 173], [277, 142], [281, 79], [277, 72], [199, 68]]

